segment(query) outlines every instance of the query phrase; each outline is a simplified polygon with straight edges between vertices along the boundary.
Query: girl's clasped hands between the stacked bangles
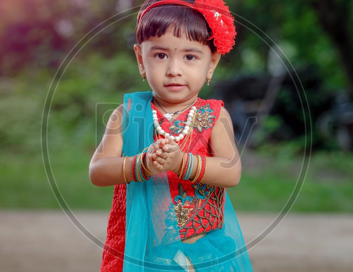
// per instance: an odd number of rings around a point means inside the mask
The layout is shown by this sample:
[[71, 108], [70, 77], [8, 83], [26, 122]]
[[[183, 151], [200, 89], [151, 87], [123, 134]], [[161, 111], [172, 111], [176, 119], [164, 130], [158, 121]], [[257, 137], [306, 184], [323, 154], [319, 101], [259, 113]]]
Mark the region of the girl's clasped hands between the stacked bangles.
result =
[[148, 147], [144, 163], [152, 174], [165, 171], [173, 171], [175, 174], [179, 174], [183, 156], [180, 146], [167, 136]]

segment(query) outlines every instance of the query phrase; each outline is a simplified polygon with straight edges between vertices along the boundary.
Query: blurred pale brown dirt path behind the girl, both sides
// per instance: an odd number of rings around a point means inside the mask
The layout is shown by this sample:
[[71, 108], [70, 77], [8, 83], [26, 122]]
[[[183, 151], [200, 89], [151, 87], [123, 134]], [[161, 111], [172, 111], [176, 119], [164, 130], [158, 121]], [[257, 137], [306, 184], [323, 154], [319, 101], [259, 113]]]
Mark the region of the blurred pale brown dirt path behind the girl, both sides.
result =
[[[104, 241], [107, 214], [77, 212], [76, 218]], [[239, 214], [247, 243], [275, 214]], [[0, 211], [0, 271], [99, 271], [102, 249], [61, 211]], [[252, 243], [251, 243], [252, 244]], [[351, 271], [353, 216], [289, 214], [249, 250], [254, 271]]]

